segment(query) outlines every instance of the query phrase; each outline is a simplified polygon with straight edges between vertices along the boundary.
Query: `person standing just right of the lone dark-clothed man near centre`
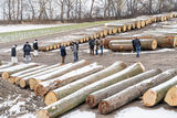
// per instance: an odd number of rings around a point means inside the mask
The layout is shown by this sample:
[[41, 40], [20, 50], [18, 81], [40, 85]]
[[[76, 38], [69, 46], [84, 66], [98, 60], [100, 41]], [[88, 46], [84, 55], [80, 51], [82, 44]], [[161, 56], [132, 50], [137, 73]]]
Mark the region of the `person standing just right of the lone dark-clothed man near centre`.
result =
[[77, 62], [79, 61], [79, 55], [77, 55], [77, 53], [79, 53], [79, 44], [74, 41], [72, 43], [71, 49], [72, 49], [72, 52], [74, 54], [74, 62]]

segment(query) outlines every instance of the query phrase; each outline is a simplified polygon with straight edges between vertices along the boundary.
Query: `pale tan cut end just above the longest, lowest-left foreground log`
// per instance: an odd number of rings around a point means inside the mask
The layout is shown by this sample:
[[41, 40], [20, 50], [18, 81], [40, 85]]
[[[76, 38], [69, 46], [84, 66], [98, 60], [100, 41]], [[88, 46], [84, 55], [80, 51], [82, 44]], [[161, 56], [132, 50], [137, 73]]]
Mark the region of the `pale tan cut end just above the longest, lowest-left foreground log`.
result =
[[53, 104], [53, 103], [55, 103], [55, 101], [58, 101], [58, 100], [59, 100], [59, 98], [58, 98], [56, 94], [53, 93], [53, 92], [49, 92], [49, 93], [45, 95], [45, 98], [44, 98], [45, 105], [51, 105], [51, 104]]

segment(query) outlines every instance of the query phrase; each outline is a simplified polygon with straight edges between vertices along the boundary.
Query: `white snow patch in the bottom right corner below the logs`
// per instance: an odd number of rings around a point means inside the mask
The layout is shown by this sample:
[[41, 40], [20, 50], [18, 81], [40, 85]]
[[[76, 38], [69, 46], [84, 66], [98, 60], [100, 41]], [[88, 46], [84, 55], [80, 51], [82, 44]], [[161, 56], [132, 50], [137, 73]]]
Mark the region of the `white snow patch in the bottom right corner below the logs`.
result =
[[117, 111], [114, 118], [176, 118], [177, 112], [165, 108], [143, 109], [139, 107], [131, 107]]

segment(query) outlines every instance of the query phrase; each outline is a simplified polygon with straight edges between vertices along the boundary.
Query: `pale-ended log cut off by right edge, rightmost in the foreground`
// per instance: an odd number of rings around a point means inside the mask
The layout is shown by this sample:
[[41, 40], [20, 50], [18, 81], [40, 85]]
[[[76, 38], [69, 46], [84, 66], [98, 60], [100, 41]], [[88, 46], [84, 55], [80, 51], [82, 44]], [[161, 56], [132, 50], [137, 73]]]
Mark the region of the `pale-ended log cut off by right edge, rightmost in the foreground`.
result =
[[177, 85], [169, 88], [167, 92], [165, 99], [164, 99], [169, 106], [177, 106]]

